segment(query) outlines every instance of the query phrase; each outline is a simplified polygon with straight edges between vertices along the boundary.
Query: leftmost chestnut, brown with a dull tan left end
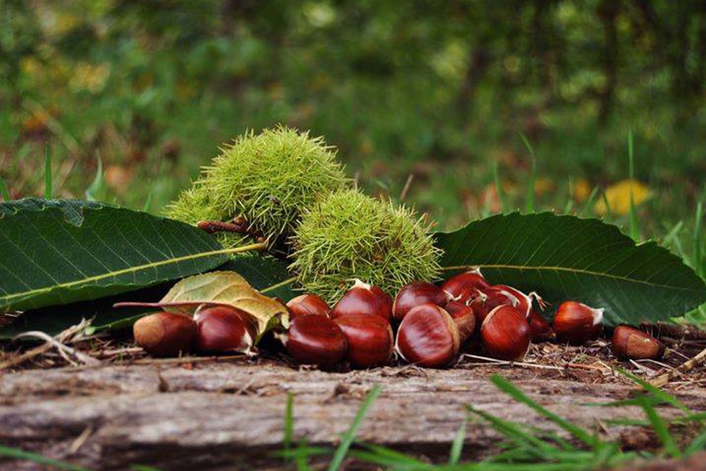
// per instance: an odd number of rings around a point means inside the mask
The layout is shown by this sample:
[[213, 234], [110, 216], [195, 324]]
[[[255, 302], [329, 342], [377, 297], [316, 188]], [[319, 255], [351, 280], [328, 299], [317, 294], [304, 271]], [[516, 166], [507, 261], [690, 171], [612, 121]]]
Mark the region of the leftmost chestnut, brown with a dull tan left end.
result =
[[140, 317], [133, 325], [138, 346], [153, 357], [176, 357], [188, 352], [196, 341], [193, 319], [171, 312], [157, 312]]

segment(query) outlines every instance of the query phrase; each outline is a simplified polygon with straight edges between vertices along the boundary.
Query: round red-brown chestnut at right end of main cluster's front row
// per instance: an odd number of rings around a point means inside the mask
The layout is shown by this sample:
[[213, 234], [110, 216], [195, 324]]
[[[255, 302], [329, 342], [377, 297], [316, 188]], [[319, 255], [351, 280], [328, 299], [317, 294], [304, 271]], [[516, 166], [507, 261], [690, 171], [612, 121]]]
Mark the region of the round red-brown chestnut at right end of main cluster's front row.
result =
[[530, 347], [530, 324], [513, 306], [498, 306], [489, 312], [481, 325], [481, 342], [491, 356], [521, 360]]

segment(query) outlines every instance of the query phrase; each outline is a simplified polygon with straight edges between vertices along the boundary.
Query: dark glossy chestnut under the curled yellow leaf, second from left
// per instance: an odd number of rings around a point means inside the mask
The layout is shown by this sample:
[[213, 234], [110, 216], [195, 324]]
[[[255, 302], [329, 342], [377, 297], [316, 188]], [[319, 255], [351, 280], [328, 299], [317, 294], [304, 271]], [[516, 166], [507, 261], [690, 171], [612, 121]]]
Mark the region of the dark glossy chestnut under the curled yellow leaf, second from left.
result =
[[214, 306], [196, 311], [196, 347], [204, 353], [249, 353], [255, 343], [256, 326], [241, 309]]

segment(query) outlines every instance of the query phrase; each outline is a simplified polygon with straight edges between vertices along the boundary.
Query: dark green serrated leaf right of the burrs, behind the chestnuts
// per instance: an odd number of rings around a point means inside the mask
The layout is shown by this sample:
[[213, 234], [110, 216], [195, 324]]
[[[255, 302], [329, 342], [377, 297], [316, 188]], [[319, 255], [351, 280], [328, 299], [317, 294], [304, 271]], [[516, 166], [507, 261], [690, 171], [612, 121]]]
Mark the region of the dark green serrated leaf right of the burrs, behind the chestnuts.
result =
[[496, 215], [436, 234], [445, 278], [480, 267], [493, 283], [604, 308], [607, 325], [669, 321], [706, 302], [706, 284], [655, 242], [635, 244], [597, 219]]

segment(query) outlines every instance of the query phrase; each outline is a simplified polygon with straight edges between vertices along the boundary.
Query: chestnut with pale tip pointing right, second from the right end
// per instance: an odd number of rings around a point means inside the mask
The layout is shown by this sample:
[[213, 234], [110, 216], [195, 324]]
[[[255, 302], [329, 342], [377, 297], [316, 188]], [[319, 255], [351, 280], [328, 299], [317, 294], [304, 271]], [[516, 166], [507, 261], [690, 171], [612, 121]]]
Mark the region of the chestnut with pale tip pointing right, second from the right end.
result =
[[551, 323], [556, 339], [570, 345], [582, 345], [597, 338], [603, 330], [603, 311], [576, 301], [563, 302]]

